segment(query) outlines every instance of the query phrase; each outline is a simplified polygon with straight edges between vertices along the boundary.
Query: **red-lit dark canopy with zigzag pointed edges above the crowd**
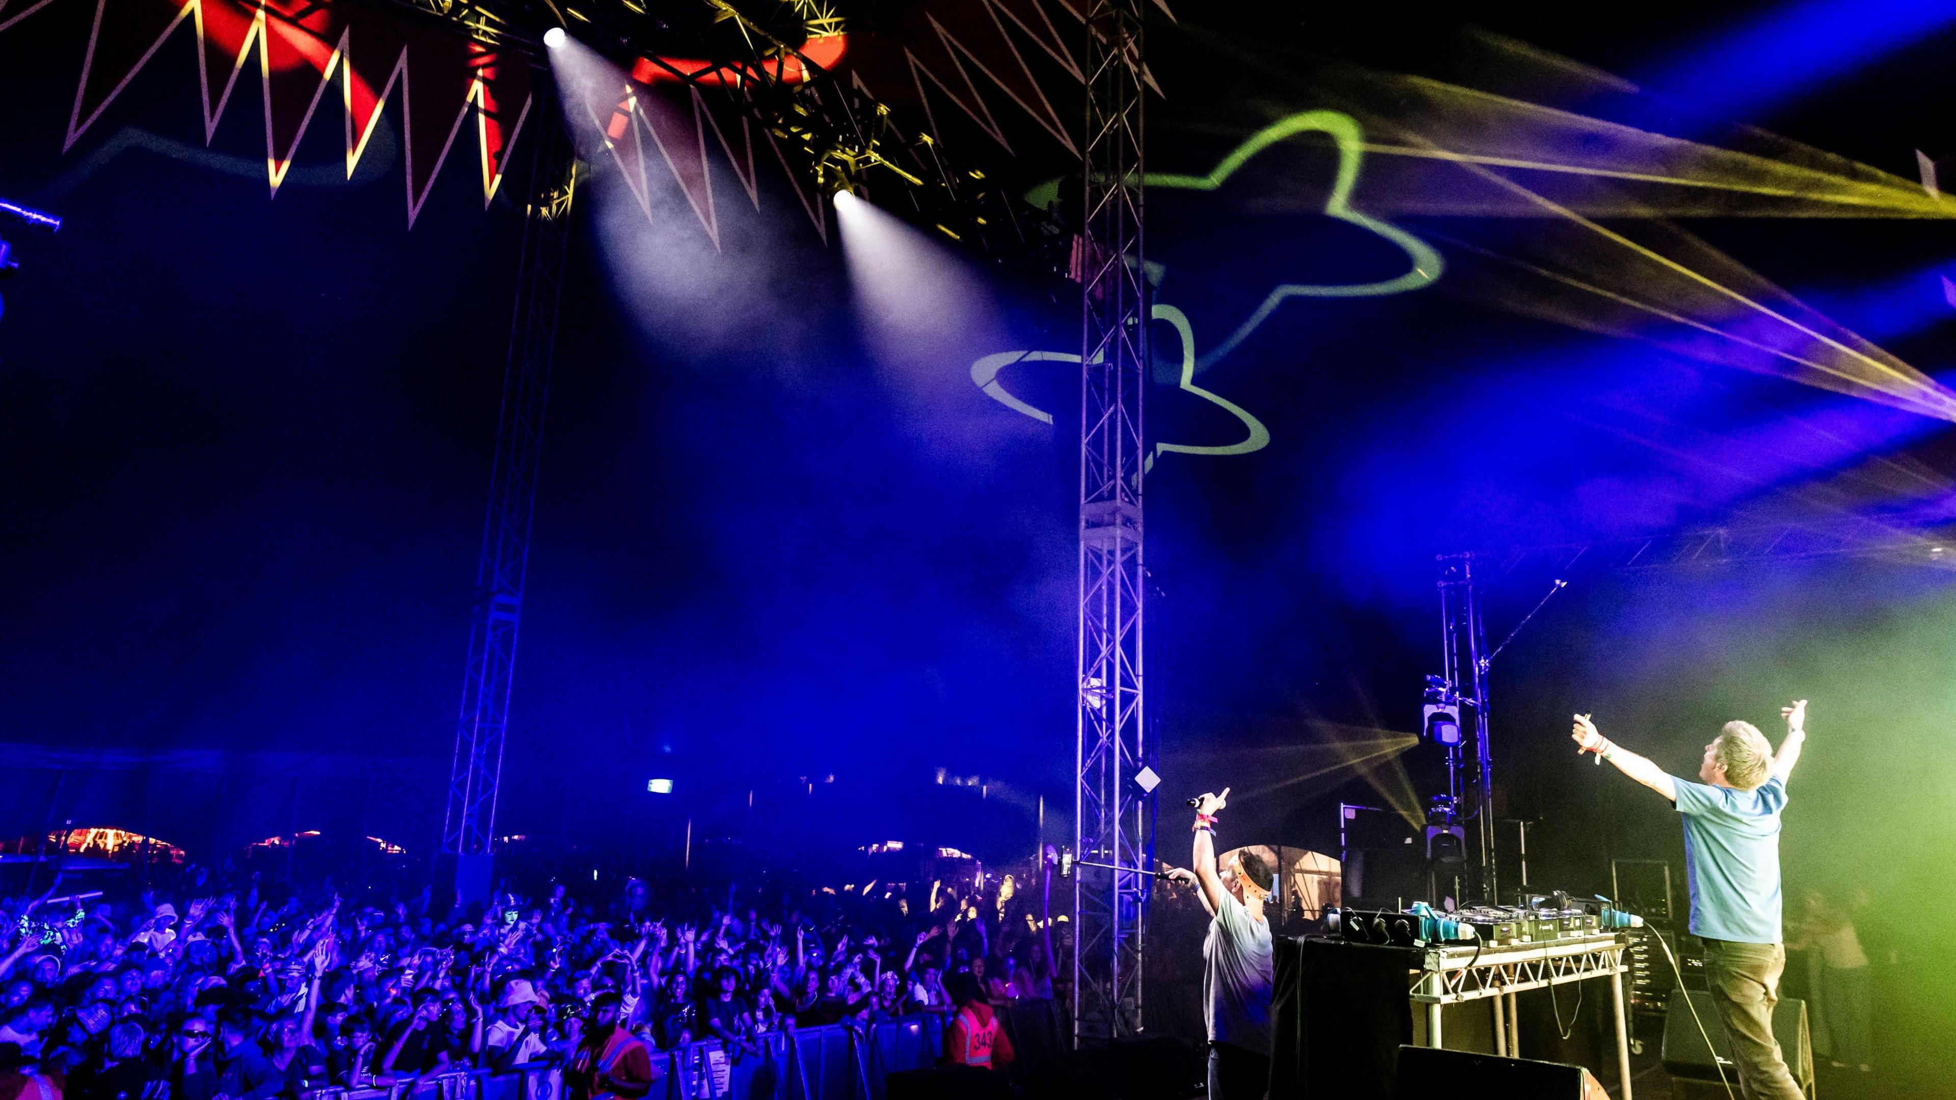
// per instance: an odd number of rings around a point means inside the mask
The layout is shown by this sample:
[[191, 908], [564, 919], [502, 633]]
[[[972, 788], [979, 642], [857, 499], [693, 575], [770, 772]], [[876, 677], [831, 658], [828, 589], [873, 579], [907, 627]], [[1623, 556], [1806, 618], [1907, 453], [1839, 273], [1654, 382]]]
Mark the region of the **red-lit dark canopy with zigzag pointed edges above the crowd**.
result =
[[[37, 12], [84, 2], [0, 0], [0, 33], [31, 35]], [[878, 25], [876, 33], [841, 29], [810, 39], [804, 53], [847, 86], [890, 106], [900, 131], [984, 143], [988, 149], [978, 153], [986, 159], [1072, 160], [1078, 151], [1070, 119], [1082, 94], [1072, 39], [1080, 33], [1080, 12], [1068, 0], [935, 0]], [[166, 76], [149, 69], [172, 35], [192, 35], [198, 43], [205, 143], [233, 106], [244, 70], [256, 70], [266, 182], [274, 196], [329, 94], [344, 117], [348, 176], [381, 112], [397, 102], [409, 225], [464, 127], [475, 137], [487, 206], [526, 125], [536, 125], [530, 117], [536, 74], [526, 57], [411, 12], [348, 0], [96, 0], [67, 147], [113, 119], [123, 92], [160, 90]], [[675, 70], [687, 72], [690, 86]], [[636, 67], [608, 121], [610, 153], [642, 204], [663, 166], [716, 245], [708, 131], [757, 207], [755, 172], [773, 160], [825, 239], [823, 204], [810, 190], [808, 164], [798, 164], [794, 151], [765, 133], [773, 157], [757, 157], [753, 129], [732, 96], [716, 94], [712, 63], [687, 59]]]

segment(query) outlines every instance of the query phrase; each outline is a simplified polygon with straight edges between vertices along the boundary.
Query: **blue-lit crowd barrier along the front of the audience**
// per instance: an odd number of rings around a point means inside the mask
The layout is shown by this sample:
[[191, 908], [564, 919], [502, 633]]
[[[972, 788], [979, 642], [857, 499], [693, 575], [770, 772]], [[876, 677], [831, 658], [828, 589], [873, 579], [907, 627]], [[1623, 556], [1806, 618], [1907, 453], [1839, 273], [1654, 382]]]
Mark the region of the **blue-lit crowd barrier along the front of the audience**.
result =
[[[1046, 1014], [1050, 1016], [1050, 1002]], [[761, 1053], [732, 1057], [720, 1039], [653, 1051], [651, 1100], [882, 1100], [884, 1078], [929, 1069], [945, 1045], [945, 1018], [902, 1016], [761, 1035]], [[536, 1063], [511, 1073], [444, 1073], [391, 1088], [319, 1088], [301, 1100], [561, 1100], [563, 1073]]]

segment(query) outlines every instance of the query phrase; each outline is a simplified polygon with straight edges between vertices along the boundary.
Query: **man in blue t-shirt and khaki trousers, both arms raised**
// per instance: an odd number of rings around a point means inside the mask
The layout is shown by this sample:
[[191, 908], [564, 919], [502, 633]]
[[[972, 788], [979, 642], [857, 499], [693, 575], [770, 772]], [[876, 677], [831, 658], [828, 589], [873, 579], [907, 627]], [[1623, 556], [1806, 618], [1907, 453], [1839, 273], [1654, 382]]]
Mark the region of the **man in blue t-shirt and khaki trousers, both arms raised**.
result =
[[1684, 869], [1692, 887], [1692, 936], [1706, 943], [1706, 985], [1731, 1035], [1739, 1092], [1747, 1100], [1801, 1100], [1772, 1037], [1786, 945], [1780, 940], [1780, 810], [1786, 777], [1805, 744], [1807, 701], [1782, 707], [1780, 752], [1751, 722], [1725, 722], [1698, 763], [1698, 779], [1667, 775], [1596, 732], [1577, 714], [1571, 736], [1618, 771], [1670, 799], [1684, 816]]

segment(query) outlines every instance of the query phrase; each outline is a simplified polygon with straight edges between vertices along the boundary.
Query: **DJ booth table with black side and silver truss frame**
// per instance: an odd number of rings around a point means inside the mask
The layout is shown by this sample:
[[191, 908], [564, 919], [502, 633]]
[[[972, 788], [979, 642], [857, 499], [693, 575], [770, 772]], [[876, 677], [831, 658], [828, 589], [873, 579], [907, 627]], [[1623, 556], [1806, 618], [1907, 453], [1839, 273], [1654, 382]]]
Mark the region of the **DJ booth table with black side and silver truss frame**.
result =
[[1623, 949], [1610, 932], [1549, 943], [1424, 947], [1277, 940], [1269, 1096], [1393, 1100], [1400, 1047], [1444, 1047], [1449, 1004], [1487, 1002], [1492, 1053], [1522, 1057], [1516, 994], [1602, 979], [1610, 983], [1618, 1080], [1623, 1100], [1631, 1100]]

